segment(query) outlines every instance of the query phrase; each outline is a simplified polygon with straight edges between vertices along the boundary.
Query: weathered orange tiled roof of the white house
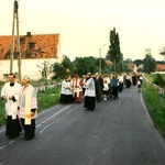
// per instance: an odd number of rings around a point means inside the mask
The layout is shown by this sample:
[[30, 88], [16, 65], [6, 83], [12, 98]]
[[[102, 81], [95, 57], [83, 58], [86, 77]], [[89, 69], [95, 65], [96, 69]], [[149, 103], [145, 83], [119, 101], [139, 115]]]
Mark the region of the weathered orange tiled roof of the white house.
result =
[[[0, 59], [10, 58], [11, 36], [0, 36]], [[21, 58], [57, 58], [59, 34], [38, 34], [20, 36]], [[16, 51], [16, 36], [15, 44]], [[16, 58], [16, 55], [14, 55]]]

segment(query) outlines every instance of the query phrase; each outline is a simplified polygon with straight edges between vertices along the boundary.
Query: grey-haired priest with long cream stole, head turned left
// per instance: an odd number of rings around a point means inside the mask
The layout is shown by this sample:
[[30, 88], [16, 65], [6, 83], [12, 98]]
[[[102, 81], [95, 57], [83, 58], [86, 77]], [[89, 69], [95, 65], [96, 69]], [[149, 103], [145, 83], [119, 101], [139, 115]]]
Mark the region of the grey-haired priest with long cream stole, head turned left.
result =
[[20, 119], [24, 129], [24, 139], [32, 140], [35, 136], [35, 118], [37, 117], [36, 90], [30, 84], [30, 77], [22, 78], [22, 91], [20, 95]]

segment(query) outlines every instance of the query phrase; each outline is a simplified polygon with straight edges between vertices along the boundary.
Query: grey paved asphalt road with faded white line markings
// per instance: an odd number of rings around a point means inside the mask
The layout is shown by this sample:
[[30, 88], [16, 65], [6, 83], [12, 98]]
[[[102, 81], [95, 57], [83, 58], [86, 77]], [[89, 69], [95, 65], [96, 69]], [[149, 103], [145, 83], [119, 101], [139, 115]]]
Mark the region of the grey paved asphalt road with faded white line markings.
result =
[[118, 100], [58, 105], [40, 113], [36, 136], [15, 140], [0, 128], [0, 165], [165, 165], [165, 141], [136, 87]]

